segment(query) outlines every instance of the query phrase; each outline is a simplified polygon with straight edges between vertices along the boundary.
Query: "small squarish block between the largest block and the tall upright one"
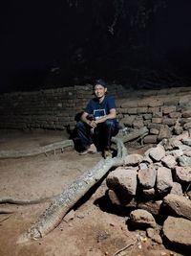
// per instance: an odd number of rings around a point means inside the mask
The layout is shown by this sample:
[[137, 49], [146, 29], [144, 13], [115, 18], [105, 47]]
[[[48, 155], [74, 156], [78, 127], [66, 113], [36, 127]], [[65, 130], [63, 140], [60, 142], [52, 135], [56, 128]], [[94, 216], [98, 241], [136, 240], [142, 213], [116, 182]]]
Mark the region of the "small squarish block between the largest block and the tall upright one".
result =
[[145, 189], [151, 189], [155, 186], [157, 172], [154, 167], [138, 171], [139, 184]]

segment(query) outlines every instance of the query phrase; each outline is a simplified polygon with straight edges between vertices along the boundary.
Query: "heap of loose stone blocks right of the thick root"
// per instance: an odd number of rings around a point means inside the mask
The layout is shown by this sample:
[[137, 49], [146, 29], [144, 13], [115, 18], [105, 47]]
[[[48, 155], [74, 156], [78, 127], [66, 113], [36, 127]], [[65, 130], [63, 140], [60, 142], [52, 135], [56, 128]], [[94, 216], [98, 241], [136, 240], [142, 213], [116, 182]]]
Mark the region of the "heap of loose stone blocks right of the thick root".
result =
[[106, 179], [114, 207], [129, 209], [128, 225], [159, 244], [191, 252], [191, 137], [163, 139], [143, 155], [129, 154]]

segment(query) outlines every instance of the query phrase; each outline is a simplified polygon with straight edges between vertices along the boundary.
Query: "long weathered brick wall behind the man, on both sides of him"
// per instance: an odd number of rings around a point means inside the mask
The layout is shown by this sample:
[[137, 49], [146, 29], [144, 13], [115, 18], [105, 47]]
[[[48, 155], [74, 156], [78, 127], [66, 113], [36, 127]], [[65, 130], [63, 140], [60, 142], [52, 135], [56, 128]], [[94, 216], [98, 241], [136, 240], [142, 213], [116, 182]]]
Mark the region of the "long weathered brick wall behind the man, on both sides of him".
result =
[[[149, 128], [144, 143], [156, 143], [191, 128], [190, 87], [159, 90], [108, 86], [117, 101], [121, 128]], [[92, 97], [92, 85], [0, 95], [0, 128], [64, 129], [75, 126], [75, 116]]]

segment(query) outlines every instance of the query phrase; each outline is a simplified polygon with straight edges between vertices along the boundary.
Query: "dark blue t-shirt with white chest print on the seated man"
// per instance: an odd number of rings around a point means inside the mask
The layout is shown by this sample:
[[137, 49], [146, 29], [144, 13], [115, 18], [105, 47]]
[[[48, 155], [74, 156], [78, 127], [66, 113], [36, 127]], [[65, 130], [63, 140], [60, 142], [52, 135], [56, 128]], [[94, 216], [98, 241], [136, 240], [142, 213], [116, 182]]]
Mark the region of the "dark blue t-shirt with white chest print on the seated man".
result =
[[96, 98], [90, 100], [84, 111], [89, 115], [93, 115], [94, 119], [98, 119], [110, 113], [110, 109], [117, 108], [115, 100], [110, 96], [105, 96], [102, 103], [99, 103]]

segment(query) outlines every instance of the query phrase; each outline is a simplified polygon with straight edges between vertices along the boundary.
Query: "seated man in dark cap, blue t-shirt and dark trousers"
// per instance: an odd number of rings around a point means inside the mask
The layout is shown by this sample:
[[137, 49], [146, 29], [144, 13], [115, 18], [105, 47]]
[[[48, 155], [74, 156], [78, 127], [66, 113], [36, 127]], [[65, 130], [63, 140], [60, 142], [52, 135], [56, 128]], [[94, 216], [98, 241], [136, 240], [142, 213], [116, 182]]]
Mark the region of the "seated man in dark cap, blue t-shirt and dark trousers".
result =
[[116, 104], [113, 98], [106, 95], [105, 81], [97, 80], [93, 89], [96, 97], [89, 101], [76, 125], [85, 149], [80, 154], [95, 153], [99, 148], [105, 158], [112, 157], [111, 138], [118, 132]]

